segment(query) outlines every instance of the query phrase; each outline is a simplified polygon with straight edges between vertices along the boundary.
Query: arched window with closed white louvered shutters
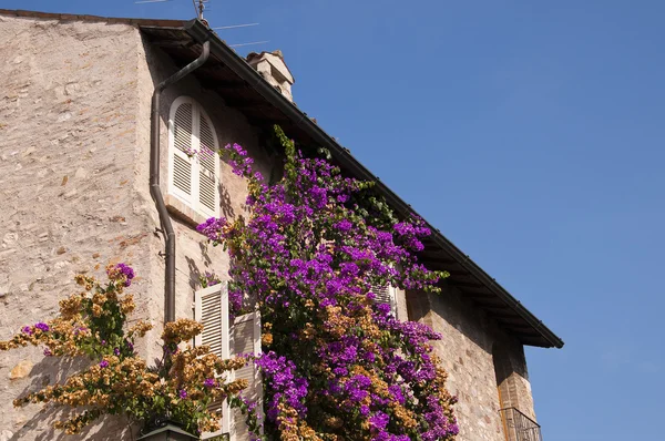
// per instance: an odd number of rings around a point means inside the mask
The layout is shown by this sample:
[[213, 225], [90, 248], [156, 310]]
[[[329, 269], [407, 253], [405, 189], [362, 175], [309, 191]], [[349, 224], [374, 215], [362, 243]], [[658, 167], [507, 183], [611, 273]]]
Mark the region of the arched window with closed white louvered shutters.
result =
[[218, 148], [201, 104], [190, 96], [176, 99], [168, 116], [168, 193], [204, 217], [218, 214]]

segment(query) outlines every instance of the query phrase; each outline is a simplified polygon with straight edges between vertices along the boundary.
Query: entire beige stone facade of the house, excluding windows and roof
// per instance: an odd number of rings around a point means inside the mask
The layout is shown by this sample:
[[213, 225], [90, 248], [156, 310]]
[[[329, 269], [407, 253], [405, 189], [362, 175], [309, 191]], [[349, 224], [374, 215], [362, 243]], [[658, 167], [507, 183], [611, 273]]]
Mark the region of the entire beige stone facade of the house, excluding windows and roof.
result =
[[[155, 84], [176, 71], [135, 25], [0, 16], [0, 339], [21, 326], [53, 317], [75, 290], [78, 273], [102, 276], [127, 261], [136, 273], [135, 317], [156, 326], [140, 350], [147, 359], [164, 318], [164, 242], [149, 193], [150, 106]], [[167, 119], [178, 96], [208, 113], [221, 145], [237, 142], [264, 176], [280, 161], [262, 148], [260, 133], [192, 76], [162, 95], [162, 192], [167, 195]], [[246, 187], [222, 163], [221, 215], [246, 215]], [[225, 276], [228, 257], [206, 246], [201, 222], [167, 196], [176, 233], [176, 316], [192, 317], [198, 276]], [[214, 263], [214, 268], [213, 268]], [[522, 346], [453, 288], [441, 296], [398, 293], [398, 316], [443, 334], [436, 343], [459, 397], [461, 441], [505, 440], [498, 410], [514, 406], [533, 417]], [[497, 361], [500, 360], [500, 361]], [[62, 380], [74, 367], [27, 348], [0, 358], [0, 390], [13, 398]], [[503, 403], [499, 402], [498, 384]], [[53, 440], [60, 416], [40, 407], [1, 406], [0, 441]], [[129, 439], [125, 421], [105, 421], [81, 437]]]

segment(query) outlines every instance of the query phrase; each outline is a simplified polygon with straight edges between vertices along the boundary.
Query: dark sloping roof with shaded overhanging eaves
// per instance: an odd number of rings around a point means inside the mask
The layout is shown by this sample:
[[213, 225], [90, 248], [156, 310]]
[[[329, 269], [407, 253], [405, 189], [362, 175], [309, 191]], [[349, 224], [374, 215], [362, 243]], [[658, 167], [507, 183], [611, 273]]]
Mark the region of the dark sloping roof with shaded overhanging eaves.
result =
[[[193, 74], [201, 84], [221, 95], [227, 105], [241, 111], [250, 124], [269, 130], [279, 124], [293, 139], [304, 144], [327, 148], [334, 161], [349, 175], [376, 181], [376, 191], [401, 216], [416, 211], [377, 176], [339, 145], [306, 113], [268, 84], [242, 57], [224, 43], [203, 21], [110, 19], [95, 16], [52, 14], [31, 11], [0, 10], [0, 16], [30, 17], [62, 21], [126, 23], [139, 27], [152, 44], [162, 48], [176, 64], [184, 66], [197, 58], [202, 44], [209, 40], [208, 62]], [[563, 347], [563, 340], [529, 311], [508, 290], [490, 277], [468, 255], [429, 223], [432, 235], [424, 240], [421, 261], [430, 269], [450, 273], [448, 283], [484, 309], [497, 322], [528, 346]]]

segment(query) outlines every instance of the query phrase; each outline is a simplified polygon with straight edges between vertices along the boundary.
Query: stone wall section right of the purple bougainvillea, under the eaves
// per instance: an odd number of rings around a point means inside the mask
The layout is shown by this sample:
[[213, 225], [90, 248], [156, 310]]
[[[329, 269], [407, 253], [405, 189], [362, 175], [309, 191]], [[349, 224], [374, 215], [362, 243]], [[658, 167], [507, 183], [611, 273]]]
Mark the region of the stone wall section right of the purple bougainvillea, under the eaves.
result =
[[[499, 409], [514, 406], [535, 418], [522, 345], [499, 329], [493, 320], [443, 283], [439, 295], [407, 293], [409, 318], [442, 334], [433, 343], [449, 373], [448, 388], [459, 399], [456, 413], [459, 441], [505, 441]], [[494, 348], [500, 348], [512, 401], [499, 401]]]

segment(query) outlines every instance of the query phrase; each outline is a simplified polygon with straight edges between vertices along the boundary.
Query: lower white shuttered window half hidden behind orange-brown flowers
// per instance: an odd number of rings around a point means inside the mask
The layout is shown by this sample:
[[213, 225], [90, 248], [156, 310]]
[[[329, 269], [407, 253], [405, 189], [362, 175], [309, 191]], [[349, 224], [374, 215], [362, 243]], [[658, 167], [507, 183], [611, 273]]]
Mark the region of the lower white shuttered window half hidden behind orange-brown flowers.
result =
[[[211, 351], [221, 358], [239, 355], [260, 353], [260, 314], [258, 311], [229, 319], [228, 289], [225, 283], [196, 291], [195, 320], [203, 324], [203, 332], [196, 337], [196, 346], [207, 345]], [[257, 402], [257, 409], [263, 409], [263, 386], [260, 372], [254, 363], [231, 372], [228, 380], [246, 379], [248, 386], [243, 390], [244, 399]], [[226, 401], [214, 403], [211, 410], [222, 413], [221, 430], [214, 433], [204, 433], [202, 439], [209, 439], [221, 434], [228, 434], [231, 441], [245, 441], [249, 439], [245, 416], [237, 410], [229, 409]], [[262, 414], [263, 418], [263, 414]]]

